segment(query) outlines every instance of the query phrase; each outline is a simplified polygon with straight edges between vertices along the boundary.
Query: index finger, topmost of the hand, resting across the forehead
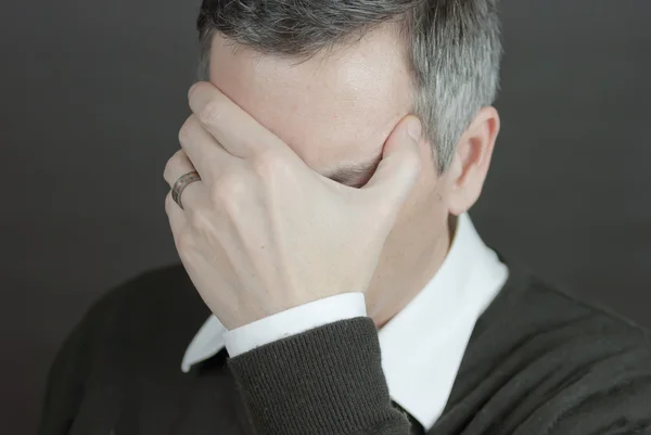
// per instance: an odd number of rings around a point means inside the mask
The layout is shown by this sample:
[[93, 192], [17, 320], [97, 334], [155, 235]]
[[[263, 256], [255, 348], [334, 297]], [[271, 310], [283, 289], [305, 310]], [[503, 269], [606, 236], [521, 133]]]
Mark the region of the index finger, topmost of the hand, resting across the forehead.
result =
[[[189, 94], [190, 108], [204, 128], [232, 155], [250, 158], [283, 142], [213, 84], [199, 81]], [[191, 151], [188, 152], [193, 158]]]

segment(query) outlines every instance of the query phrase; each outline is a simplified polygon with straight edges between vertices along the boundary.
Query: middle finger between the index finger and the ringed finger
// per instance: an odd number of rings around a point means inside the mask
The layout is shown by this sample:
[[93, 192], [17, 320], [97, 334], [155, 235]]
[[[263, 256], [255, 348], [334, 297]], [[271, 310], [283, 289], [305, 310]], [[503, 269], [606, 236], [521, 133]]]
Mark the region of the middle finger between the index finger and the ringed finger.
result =
[[179, 142], [187, 158], [208, 185], [212, 185], [227, 167], [242, 161], [226, 151], [194, 114], [190, 115], [181, 127]]

